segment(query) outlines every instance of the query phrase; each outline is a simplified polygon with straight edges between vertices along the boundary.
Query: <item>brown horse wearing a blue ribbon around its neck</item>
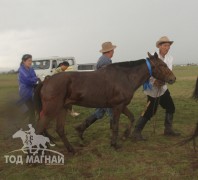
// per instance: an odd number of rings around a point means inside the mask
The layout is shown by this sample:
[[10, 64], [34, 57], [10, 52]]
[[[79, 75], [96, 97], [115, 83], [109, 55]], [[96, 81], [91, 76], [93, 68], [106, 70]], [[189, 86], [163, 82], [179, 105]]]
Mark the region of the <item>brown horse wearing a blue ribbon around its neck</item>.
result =
[[[148, 53], [147, 63], [152, 69], [152, 76], [174, 83], [176, 77], [167, 65], [158, 58], [157, 53]], [[117, 148], [120, 114], [124, 113], [134, 121], [133, 114], [127, 108], [135, 91], [150, 77], [145, 59], [120, 62], [108, 65], [94, 72], [63, 72], [47, 79], [38, 86], [35, 94], [40, 120], [37, 133], [42, 133], [52, 118], [56, 118], [56, 131], [69, 152], [74, 152], [64, 134], [64, 122], [71, 105], [91, 108], [112, 108], [113, 124], [111, 145]], [[39, 107], [41, 100], [42, 106]], [[129, 127], [132, 127], [130, 125]]]

